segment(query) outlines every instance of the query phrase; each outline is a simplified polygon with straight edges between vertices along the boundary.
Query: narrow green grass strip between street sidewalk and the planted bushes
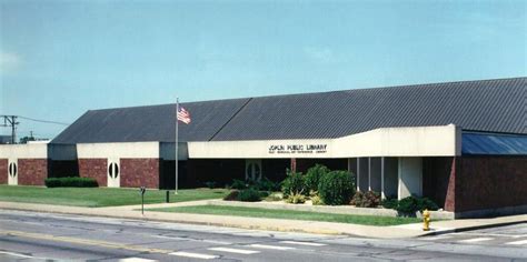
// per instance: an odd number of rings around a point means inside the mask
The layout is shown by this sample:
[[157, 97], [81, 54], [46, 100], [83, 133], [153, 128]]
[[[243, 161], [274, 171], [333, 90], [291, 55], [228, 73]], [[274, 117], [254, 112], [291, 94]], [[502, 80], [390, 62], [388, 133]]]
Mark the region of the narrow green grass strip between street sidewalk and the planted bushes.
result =
[[178, 213], [196, 213], [196, 214], [219, 214], [219, 215], [238, 215], [250, 218], [269, 218], [269, 219], [294, 219], [294, 220], [310, 220], [325, 221], [365, 225], [397, 225], [418, 223], [416, 218], [389, 218], [389, 216], [374, 216], [374, 215], [352, 215], [352, 214], [332, 214], [319, 213], [309, 211], [294, 211], [294, 210], [274, 210], [274, 209], [258, 209], [258, 208], [241, 208], [241, 206], [222, 206], [222, 205], [192, 205], [180, 208], [165, 208], [165, 209], [148, 209], [149, 211], [161, 212], [178, 212]]

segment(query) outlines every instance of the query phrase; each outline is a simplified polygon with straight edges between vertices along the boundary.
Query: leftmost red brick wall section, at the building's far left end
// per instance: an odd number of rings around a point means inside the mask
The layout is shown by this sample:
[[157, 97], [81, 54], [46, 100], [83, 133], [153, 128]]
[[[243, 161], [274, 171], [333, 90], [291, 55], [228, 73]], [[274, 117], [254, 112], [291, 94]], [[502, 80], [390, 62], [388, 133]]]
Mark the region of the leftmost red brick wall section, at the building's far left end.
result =
[[44, 185], [47, 178], [47, 159], [18, 159], [18, 184]]

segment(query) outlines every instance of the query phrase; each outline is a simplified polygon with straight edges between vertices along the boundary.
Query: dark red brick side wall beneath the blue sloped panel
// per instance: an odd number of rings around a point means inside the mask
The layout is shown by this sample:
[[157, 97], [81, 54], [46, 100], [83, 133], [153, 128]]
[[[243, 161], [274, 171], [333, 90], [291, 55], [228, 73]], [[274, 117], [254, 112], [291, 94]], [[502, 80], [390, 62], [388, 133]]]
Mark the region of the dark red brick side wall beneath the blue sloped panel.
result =
[[456, 212], [527, 204], [527, 157], [456, 161]]

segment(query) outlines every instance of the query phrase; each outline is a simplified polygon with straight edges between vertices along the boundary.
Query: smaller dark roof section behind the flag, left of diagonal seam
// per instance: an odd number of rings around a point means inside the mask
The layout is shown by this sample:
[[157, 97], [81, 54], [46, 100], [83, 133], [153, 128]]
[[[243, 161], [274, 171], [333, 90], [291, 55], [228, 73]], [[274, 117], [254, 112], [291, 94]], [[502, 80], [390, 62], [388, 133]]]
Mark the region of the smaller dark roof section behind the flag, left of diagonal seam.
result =
[[[181, 103], [192, 122], [179, 124], [179, 141], [207, 141], [249, 99]], [[173, 142], [176, 104], [90, 110], [51, 143]]]

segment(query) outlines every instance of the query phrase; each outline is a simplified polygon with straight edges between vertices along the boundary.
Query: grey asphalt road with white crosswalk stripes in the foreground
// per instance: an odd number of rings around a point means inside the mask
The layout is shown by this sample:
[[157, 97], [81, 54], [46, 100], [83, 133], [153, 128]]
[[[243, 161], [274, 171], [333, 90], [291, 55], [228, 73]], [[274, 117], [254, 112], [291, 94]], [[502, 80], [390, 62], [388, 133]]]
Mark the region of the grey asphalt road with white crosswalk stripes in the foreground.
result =
[[527, 261], [527, 224], [376, 240], [0, 210], [0, 261], [43, 260]]

